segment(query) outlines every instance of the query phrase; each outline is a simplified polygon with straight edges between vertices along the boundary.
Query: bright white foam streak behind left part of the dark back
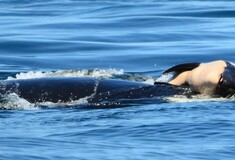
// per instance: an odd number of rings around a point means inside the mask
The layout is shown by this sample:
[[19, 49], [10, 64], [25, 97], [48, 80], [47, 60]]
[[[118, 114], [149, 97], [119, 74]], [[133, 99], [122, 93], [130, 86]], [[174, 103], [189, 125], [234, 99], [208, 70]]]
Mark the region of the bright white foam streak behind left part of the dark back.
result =
[[18, 73], [15, 77], [8, 77], [7, 80], [14, 79], [32, 79], [32, 78], [44, 78], [44, 77], [102, 77], [110, 78], [113, 75], [124, 74], [124, 71], [116, 69], [92, 69], [92, 70], [58, 70], [58, 71], [30, 71], [26, 73]]

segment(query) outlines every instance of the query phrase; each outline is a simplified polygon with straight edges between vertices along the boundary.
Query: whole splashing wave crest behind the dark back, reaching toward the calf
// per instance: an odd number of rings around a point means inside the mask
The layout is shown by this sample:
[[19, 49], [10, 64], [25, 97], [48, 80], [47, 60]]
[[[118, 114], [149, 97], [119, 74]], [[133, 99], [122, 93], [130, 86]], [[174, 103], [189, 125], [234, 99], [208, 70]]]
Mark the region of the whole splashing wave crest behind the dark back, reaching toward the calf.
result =
[[[50, 78], [50, 77], [95, 77], [95, 78], [115, 78], [154, 84], [156, 81], [152, 76], [143, 73], [127, 73], [123, 69], [83, 69], [83, 70], [57, 70], [57, 71], [29, 71], [21, 72], [14, 76], [8, 76], [6, 80]], [[160, 81], [164, 81], [160, 77]], [[159, 79], [157, 79], [158, 81]]]

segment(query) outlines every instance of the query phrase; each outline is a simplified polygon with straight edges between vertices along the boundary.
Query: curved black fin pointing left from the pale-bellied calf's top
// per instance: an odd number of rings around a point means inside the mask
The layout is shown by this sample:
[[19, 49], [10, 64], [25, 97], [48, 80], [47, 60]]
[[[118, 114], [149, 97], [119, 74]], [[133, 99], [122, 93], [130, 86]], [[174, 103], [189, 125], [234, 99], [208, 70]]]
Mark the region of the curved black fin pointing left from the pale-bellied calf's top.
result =
[[184, 64], [179, 64], [176, 66], [173, 66], [169, 68], [168, 70], [164, 71], [163, 74], [168, 74], [171, 72], [175, 72], [175, 75], [179, 75], [182, 72], [185, 71], [191, 71], [194, 68], [197, 68], [201, 63], [184, 63]]

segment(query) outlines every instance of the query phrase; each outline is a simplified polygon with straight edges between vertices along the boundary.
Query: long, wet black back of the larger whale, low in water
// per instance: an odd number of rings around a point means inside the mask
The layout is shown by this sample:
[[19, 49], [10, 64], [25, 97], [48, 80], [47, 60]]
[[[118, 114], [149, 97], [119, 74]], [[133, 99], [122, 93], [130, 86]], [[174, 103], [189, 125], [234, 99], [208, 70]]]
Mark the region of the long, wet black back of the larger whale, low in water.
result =
[[92, 103], [115, 99], [185, 94], [188, 89], [166, 83], [145, 83], [91, 77], [39, 78], [0, 81], [0, 94], [17, 93], [29, 102], [69, 102], [89, 97]]

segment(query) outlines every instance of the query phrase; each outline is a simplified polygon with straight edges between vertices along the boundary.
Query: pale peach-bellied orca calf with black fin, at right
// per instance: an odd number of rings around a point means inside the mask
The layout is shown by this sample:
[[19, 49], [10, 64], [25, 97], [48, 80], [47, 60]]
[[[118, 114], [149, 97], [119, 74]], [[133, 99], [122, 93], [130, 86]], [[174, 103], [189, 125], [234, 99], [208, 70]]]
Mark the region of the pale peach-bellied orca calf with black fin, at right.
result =
[[223, 60], [208, 63], [179, 64], [164, 71], [173, 72], [168, 82], [177, 86], [188, 86], [194, 92], [223, 97], [235, 94], [235, 65]]

